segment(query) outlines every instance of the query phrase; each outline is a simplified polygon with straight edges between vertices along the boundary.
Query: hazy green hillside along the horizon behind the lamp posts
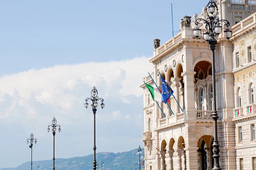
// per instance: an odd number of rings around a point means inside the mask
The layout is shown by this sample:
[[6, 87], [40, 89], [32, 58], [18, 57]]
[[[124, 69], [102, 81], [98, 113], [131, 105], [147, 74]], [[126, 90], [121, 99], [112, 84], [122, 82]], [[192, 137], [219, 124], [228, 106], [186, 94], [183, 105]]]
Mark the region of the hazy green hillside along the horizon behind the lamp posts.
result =
[[[96, 153], [96, 161], [101, 170], [101, 161], [105, 162], [103, 170], [138, 170], [139, 169], [139, 154], [138, 149], [128, 152], [111, 153], [102, 152]], [[144, 157], [144, 149], [142, 150], [141, 161]], [[52, 160], [33, 161], [33, 170], [37, 170], [38, 165], [40, 170], [52, 170]], [[69, 159], [55, 159], [55, 170], [92, 170], [93, 169], [93, 154], [83, 157], [74, 157]], [[142, 168], [141, 168], [142, 169]], [[30, 170], [30, 161], [16, 168], [1, 168], [0, 170]], [[98, 168], [97, 168], [98, 170]]]

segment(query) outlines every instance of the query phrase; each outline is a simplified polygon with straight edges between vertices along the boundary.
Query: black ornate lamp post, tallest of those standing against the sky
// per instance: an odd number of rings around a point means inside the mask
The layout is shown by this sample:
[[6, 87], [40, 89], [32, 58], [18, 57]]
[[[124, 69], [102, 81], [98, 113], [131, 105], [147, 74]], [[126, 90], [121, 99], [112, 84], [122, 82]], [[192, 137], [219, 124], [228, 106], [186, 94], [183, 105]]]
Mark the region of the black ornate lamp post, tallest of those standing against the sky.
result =
[[105, 104], [103, 103], [103, 99], [98, 97], [98, 91], [96, 87], [93, 87], [93, 90], [91, 91], [91, 97], [85, 99], [84, 107], [88, 108], [88, 101], [91, 100], [93, 104], [91, 105], [93, 108], [93, 115], [94, 115], [94, 145], [93, 145], [93, 150], [94, 150], [94, 160], [93, 160], [93, 170], [96, 170], [96, 137], [95, 137], [95, 115], [96, 115], [96, 107], [98, 106], [98, 101], [101, 101], [102, 103], [100, 104], [101, 108], [103, 109], [105, 107]]

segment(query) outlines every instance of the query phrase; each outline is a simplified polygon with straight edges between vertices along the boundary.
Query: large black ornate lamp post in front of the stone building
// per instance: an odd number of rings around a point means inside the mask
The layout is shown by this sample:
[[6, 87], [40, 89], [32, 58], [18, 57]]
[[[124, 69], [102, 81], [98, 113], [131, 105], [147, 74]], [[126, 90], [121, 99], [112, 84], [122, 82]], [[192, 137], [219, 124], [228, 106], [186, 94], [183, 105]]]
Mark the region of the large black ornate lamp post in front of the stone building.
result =
[[218, 120], [218, 113], [216, 111], [216, 88], [215, 88], [215, 47], [217, 44], [217, 40], [215, 40], [215, 36], [221, 34], [222, 26], [221, 23], [224, 23], [224, 25], [227, 26], [226, 30], [224, 31], [224, 36], [227, 38], [227, 40], [230, 39], [232, 36], [232, 31], [228, 28], [230, 26], [230, 23], [227, 20], [219, 20], [218, 17], [218, 7], [214, 0], [209, 0], [209, 3], [207, 4], [207, 15], [205, 19], [198, 18], [195, 20], [196, 27], [193, 29], [193, 34], [196, 38], [198, 38], [201, 35], [201, 29], [198, 27], [199, 23], [204, 23], [205, 28], [207, 31], [204, 32], [204, 40], [206, 40], [210, 48], [212, 50], [212, 92], [213, 92], [213, 113], [212, 113], [212, 119], [213, 121], [213, 127], [214, 127], [214, 141], [212, 144], [212, 152], [213, 152], [213, 159], [214, 159], [214, 167], [212, 170], [221, 170], [220, 164], [219, 164], [219, 144], [218, 144], [218, 131], [217, 131], [217, 120]]

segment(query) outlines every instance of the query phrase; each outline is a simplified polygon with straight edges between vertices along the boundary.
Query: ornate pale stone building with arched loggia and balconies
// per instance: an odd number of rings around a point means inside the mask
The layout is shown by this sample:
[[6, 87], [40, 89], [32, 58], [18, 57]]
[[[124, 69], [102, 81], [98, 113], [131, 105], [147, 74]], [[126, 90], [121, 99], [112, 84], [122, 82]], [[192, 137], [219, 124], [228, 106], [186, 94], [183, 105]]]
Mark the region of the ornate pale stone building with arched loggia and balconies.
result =
[[[255, 83], [256, 0], [215, 0], [220, 19], [230, 21], [233, 36], [216, 37], [216, 101], [220, 165], [223, 170], [256, 170]], [[174, 91], [169, 105], [159, 103], [166, 117], [144, 89], [146, 170], [212, 169], [212, 59], [209, 44], [193, 37], [191, 26], [153, 50], [151, 76], [160, 86], [161, 74]], [[185, 20], [185, 18], [184, 18]], [[183, 20], [182, 20], [183, 21]], [[204, 26], [201, 26], [204, 28]], [[143, 80], [154, 85], [149, 76]]]

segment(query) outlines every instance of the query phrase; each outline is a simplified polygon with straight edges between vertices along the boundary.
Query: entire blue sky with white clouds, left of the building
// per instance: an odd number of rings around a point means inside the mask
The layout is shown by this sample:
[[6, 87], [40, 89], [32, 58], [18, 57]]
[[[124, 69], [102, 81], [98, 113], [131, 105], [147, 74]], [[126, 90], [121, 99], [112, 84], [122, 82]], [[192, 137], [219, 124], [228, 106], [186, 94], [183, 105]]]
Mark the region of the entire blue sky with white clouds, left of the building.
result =
[[[93, 113], [84, 108], [93, 86], [105, 101], [96, 113], [96, 152], [143, 146], [143, 77], [153, 40], [163, 44], [184, 15], [208, 0], [1, 0], [0, 168], [30, 160], [93, 154]], [[186, 6], [184, 5], [186, 4]], [[185, 12], [186, 11], [186, 12]]]

